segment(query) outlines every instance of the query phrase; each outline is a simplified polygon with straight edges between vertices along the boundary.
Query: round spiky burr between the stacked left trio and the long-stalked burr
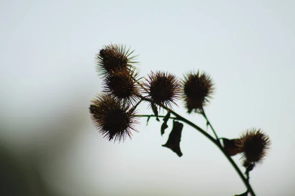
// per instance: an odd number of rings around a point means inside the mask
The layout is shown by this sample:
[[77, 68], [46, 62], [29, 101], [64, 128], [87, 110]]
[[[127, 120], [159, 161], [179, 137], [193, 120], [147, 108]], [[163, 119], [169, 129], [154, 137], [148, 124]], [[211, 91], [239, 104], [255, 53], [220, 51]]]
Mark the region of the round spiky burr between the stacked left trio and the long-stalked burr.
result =
[[181, 84], [177, 76], [174, 74], [156, 71], [151, 71], [146, 79], [145, 89], [148, 92], [147, 97], [152, 100], [153, 104], [172, 107], [176, 101], [180, 99]]

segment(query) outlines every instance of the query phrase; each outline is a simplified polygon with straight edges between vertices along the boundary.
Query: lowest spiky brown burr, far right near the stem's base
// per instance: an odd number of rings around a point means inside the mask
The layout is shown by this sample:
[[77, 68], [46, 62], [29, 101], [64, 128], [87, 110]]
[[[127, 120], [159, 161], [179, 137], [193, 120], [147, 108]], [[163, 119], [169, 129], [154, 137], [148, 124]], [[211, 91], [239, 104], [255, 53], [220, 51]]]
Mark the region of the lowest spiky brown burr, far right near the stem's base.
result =
[[262, 163], [270, 144], [269, 137], [261, 129], [248, 129], [240, 138], [244, 163]]

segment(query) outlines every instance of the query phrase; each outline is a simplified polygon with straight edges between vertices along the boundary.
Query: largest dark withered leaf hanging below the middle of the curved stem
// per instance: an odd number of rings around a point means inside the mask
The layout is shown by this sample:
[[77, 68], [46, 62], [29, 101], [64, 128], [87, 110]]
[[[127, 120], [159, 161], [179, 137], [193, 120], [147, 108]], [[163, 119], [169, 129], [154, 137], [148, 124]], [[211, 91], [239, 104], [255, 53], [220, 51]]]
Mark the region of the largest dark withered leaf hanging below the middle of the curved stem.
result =
[[180, 139], [182, 132], [183, 124], [177, 121], [173, 121], [173, 128], [169, 135], [169, 138], [166, 144], [162, 145], [164, 147], [170, 148], [173, 152], [175, 152], [178, 157], [182, 156], [182, 152], [180, 150]]

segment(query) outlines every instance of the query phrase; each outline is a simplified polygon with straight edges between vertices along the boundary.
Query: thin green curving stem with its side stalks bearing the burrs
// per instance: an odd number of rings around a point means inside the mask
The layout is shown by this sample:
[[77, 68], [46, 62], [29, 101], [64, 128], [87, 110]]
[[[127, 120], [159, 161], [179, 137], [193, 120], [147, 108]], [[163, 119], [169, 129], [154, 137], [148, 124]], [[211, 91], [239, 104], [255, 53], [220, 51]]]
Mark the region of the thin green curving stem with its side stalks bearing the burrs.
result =
[[[148, 102], [151, 102], [151, 100], [149, 100], [148, 98], [144, 98], [141, 97], [143, 100], [146, 100]], [[226, 156], [226, 158], [229, 160], [229, 162], [232, 164], [232, 166], [236, 169], [236, 172], [238, 173], [238, 175], [240, 176], [240, 178], [242, 179], [242, 181], [244, 182], [245, 186], [247, 187], [249, 193], [251, 194], [251, 196], [255, 196], [254, 191], [252, 190], [252, 187], [250, 185], [250, 183], [248, 182], [248, 179], [245, 178], [244, 174], [241, 172], [241, 170], [237, 167], [236, 163], [234, 162], [234, 160], [224, 151], [220, 141], [218, 140], [218, 137], [213, 129], [213, 127], [211, 126], [210, 122], [207, 119], [207, 116], [205, 114], [205, 112], [203, 111], [203, 116], [206, 118], [208, 125], [210, 126], [210, 128], [212, 129], [215, 137], [217, 138], [217, 140], [215, 140], [212, 136], [210, 136], [206, 131], [204, 131], [202, 128], [200, 128], [199, 126], [197, 126], [196, 124], [192, 123], [191, 121], [187, 120], [186, 118], [180, 116], [178, 113], [170, 110], [169, 108], [167, 108], [164, 105], [161, 105], [162, 108], [164, 108], [167, 111], [170, 111], [173, 115], [175, 115], [174, 119], [177, 119], [179, 121], [185, 122], [186, 124], [190, 125], [191, 127], [197, 129], [199, 132], [201, 132], [205, 137], [207, 137], [209, 140], [211, 140], [224, 154], [224, 156]], [[142, 116], [142, 117], [153, 117], [154, 115], [136, 115], [136, 116]], [[158, 117], [164, 117], [164, 116], [158, 116]], [[173, 118], [173, 117], [170, 117]]]

